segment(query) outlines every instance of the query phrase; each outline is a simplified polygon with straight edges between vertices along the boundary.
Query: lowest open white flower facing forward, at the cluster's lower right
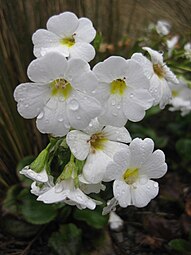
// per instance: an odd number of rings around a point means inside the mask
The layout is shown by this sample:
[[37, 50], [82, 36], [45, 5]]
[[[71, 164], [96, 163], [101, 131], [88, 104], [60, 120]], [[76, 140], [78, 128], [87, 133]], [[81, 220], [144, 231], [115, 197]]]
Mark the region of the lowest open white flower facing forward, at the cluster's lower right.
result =
[[115, 163], [108, 165], [105, 175], [115, 180], [113, 193], [121, 207], [144, 207], [157, 196], [158, 183], [150, 179], [162, 177], [167, 165], [164, 153], [161, 150], [153, 152], [153, 149], [151, 139], [136, 138], [130, 143], [126, 155], [118, 154]]

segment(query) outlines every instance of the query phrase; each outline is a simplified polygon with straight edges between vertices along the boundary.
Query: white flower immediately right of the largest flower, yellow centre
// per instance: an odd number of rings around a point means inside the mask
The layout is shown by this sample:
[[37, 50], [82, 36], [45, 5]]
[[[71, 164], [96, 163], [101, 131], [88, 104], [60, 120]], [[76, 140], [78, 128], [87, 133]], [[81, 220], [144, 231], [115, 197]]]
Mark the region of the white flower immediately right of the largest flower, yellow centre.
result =
[[143, 119], [153, 99], [149, 81], [136, 61], [112, 56], [98, 63], [93, 72], [99, 81], [95, 94], [100, 94], [104, 103], [99, 117], [102, 124], [122, 127], [128, 119]]

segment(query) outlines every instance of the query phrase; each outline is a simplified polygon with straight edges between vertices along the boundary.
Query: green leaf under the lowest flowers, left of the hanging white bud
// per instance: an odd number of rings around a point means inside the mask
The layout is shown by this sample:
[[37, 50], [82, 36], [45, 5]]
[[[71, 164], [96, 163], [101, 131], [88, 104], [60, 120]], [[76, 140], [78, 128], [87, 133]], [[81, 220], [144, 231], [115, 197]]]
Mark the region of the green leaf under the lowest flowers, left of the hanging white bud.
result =
[[102, 229], [108, 223], [108, 216], [101, 214], [101, 209], [97, 207], [94, 211], [85, 209], [76, 209], [74, 212], [74, 218], [86, 222], [89, 226]]

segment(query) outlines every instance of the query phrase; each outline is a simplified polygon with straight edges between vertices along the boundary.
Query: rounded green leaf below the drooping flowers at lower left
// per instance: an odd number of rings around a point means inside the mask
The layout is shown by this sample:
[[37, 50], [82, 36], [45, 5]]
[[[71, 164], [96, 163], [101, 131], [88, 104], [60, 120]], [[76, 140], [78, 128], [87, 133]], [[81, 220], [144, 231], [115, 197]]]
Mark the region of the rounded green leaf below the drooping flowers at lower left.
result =
[[20, 212], [23, 218], [32, 224], [46, 224], [53, 221], [57, 216], [57, 210], [53, 205], [47, 205], [37, 201], [27, 189], [19, 194]]

